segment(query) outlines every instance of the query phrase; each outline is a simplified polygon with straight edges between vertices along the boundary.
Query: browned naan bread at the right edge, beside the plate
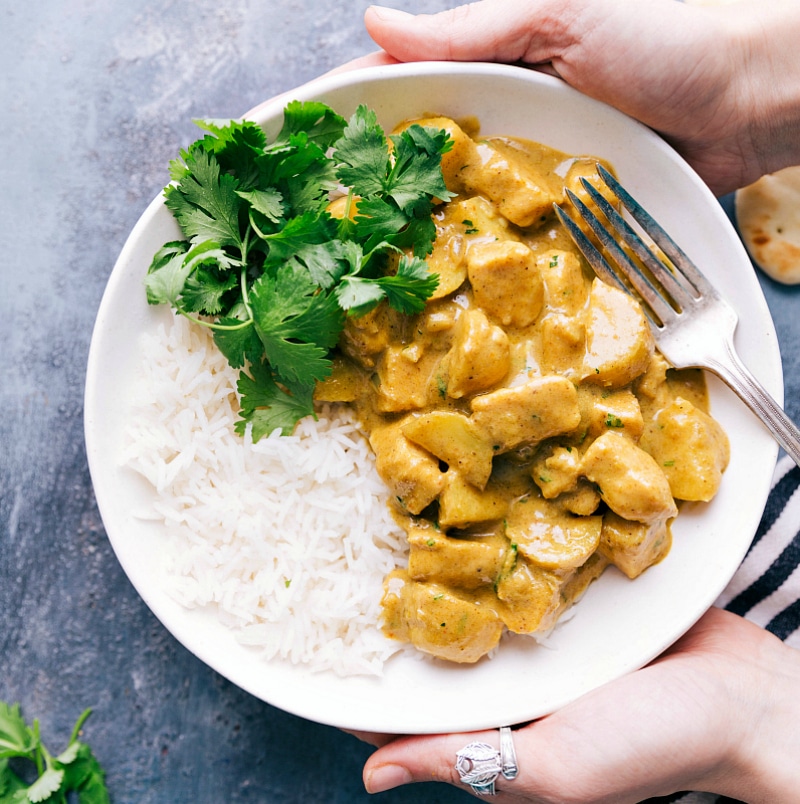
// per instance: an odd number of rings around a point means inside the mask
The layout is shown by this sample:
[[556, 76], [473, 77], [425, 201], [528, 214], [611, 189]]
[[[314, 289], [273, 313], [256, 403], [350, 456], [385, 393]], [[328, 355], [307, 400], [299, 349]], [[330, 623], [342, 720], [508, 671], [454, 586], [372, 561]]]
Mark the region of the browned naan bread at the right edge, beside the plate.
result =
[[764, 273], [786, 285], [800, 284], [800, 165], [737, 190], [736, 220]]

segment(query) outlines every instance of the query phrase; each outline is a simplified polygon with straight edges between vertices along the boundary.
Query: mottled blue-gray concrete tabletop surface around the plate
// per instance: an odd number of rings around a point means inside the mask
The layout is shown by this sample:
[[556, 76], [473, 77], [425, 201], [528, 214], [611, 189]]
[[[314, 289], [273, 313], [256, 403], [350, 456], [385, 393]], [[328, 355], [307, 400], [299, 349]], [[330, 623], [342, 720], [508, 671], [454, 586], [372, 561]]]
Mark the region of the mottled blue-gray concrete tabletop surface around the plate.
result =
[[[470, 800], [436, 785], [370, 798], [366, 746], [190, 655], [122, 573], [84, 453], [95, 313], [191, 119], [238, 116], [371, 50], [366, 5], [0, 2], [0, 700], [55, 748], [92, 707], [84, 736], [118, 804]], [[797, 291], [764, 288], [797, 418]]]

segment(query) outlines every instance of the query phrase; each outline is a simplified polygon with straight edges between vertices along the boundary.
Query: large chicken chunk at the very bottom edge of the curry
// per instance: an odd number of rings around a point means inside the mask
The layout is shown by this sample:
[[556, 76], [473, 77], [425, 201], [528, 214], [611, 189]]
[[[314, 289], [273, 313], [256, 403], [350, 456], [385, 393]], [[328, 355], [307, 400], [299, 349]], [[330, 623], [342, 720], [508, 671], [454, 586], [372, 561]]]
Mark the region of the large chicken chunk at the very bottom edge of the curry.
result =
[[488, 600], [470, 600], [405, 570], [384, 581], [383, 632], [451, 662], [474, 663], [497, 646], [503, 621]]

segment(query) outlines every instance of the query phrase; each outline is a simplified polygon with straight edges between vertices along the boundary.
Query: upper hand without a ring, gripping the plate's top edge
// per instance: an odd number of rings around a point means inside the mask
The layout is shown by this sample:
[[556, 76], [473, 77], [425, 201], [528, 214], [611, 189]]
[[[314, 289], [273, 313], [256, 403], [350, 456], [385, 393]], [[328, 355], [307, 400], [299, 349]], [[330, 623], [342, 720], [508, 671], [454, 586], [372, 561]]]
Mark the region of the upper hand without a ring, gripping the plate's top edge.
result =
[[400, 61], [544, 66], [660, 132], [722, 194], [800, 162], [800, 3], [481, 0], [434, 15], [373, 6]]

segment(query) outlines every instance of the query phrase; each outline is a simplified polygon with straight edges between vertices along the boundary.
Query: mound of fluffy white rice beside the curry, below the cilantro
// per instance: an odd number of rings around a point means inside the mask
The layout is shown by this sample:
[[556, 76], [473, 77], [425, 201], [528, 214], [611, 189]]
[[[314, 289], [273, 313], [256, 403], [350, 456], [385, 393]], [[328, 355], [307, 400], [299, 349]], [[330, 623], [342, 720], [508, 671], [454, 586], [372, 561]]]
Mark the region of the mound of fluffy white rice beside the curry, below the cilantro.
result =
[[253, 444], [234, 433], [237, 372], [204, 327], [175, 316], [141, 350], [124, 461], [153, 486], [170, 593], [215, 607], [265, 660], [380, 674], [403, 649], [379, 619], [405, 537], [349, 411]]

